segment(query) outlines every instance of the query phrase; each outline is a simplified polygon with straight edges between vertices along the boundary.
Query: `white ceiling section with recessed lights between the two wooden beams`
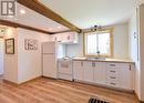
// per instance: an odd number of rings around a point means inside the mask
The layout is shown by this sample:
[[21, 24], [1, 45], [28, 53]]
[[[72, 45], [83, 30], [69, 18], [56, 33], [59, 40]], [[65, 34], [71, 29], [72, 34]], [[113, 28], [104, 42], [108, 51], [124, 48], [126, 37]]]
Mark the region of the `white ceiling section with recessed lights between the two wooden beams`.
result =
[[[20, 10], [23, 10], [25, 13], [21, 14]], [[64, 27], [60, 23], [56, 23], [55, 21], [53, 21], [31, 9], [28, 9], [27, 7], [24, 7], [20, 3], [17, 3], [17, 16], [16, 17], [7, 17], [7, 18], [0, 17], [0, 19], [25, 24], [25, 25], [38, 28], [38, 29], [49, 31], [49, 32], [61, 32], [61, 31], [70, 30], [66, 27]]]

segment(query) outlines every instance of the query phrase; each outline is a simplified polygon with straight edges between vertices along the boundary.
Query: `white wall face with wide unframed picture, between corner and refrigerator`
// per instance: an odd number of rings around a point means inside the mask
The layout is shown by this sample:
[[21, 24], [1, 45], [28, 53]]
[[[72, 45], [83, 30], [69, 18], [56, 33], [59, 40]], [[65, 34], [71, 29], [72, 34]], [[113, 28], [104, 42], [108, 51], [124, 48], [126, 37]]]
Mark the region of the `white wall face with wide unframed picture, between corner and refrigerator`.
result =
[[[38, 50], [24, 50], [24, 40], [38, 40]], [[41, 43], [49, 41], [50, 35], [18, 28], [18, 80], [19, 83], [41, 76]]]

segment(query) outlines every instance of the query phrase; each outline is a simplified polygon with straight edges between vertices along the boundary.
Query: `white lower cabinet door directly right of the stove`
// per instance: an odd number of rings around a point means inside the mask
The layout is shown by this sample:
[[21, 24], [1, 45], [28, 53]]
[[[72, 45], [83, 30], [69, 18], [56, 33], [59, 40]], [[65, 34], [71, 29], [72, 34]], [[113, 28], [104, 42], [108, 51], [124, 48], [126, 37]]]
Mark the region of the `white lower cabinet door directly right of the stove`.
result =
[[73, 62], [73, 76], [75, 80], [83, 81], [83, 61]]

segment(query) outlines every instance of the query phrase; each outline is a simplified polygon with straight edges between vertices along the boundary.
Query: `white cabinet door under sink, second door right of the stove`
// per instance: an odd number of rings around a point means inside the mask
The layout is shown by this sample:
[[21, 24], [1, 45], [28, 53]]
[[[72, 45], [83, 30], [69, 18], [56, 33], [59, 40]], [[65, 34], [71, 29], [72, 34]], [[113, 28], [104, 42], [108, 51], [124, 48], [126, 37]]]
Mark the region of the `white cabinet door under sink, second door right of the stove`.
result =
[[93, 82], [94, 63], [89, 61], [84, 62], [83, 71], [84, 81]]

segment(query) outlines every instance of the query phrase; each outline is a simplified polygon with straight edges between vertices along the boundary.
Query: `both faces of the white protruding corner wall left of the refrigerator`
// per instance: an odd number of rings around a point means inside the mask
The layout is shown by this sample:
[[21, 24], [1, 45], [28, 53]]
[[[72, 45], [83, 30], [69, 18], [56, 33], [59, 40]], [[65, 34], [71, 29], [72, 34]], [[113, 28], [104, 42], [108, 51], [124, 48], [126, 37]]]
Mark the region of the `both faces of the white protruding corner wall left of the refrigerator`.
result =
[[[4, 39], [14, 38], [14, 54], [4, 53], [4, 79], [22, 83], [42, 74], [41, 43], [50, 40], [49, 34], [8, 28]], [[24, 39], [38, 40], [38, 50], [24, 50]]]

